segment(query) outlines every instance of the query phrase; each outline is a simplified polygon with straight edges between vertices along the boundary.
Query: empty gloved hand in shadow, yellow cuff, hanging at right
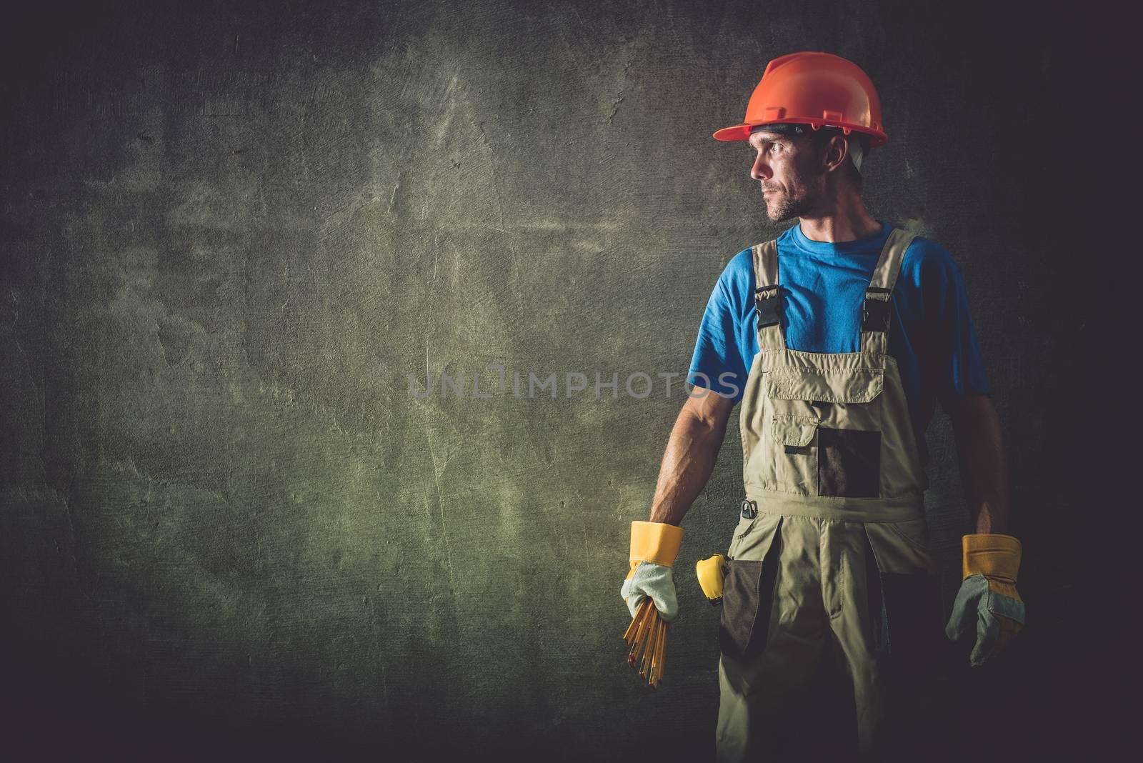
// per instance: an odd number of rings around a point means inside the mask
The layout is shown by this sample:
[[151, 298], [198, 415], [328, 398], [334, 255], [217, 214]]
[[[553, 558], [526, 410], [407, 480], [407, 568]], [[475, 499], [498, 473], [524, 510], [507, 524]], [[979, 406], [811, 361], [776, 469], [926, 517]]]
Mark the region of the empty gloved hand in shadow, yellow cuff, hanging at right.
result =
[[1024, 602], [1016, 593], [1020, 541], [1005, 535], [972, 535], [961, 540], [964, 581], [944, 634], [952, 641], [976, 623], [976, 645], [968, 659], [980, 666], [1000, 652], [1024, 627]]

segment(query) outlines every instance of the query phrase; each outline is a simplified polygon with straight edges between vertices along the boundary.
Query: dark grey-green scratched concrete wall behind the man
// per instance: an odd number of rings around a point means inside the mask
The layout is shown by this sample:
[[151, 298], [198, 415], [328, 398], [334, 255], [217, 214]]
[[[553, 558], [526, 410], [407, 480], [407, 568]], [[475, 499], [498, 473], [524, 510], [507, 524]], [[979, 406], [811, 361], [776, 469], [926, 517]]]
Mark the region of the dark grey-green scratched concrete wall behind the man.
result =
[[[682, 395], [658, 379], [636, 399], [623, 379], [685, 372], [721, 268], [784, 227], [745, 150], [710, 132], [798, 49], [872, 77], [890, 142], [868, 161], [868, 206], [964, 271], [1022, 589], [1040, 603], [991, 680], [1017, 675], [1029, 717], [1070, 707], [1041, 691], [1061, 674], [1037, 673], [1071, 637], [1048, 613], [1073, 589], [1058, 517], [1084, 489], [1039, 479], [1079, 450], [1080, 425], [1053, 419], [1080, 374], [1084, 328], [1054, 302], [1073, 222], [1050, 210], [1055, 144], [1034, 129], [1072, 77], [1066, 19], [982, 14], [711, 0], [13, 16], [10, 717], [78, 730], [35, 737], [49, 746], [163, 754], [702, 760], [717, 625], [692, 570], [735, 523], [737, 423], [685, 523], [684, 618], [649, 693], [624, 665], [617, 588]], [[510, 385], [523, 375], [520, 397], [472, 397], [496, 363]], [[529, 371], [617, 372], [620, 395], [528, 399]], [[466, 396], [410, 396], [407, 375], [441, 372]], [[929, 440], [948, 607], [965, 513], [940, 412]]]

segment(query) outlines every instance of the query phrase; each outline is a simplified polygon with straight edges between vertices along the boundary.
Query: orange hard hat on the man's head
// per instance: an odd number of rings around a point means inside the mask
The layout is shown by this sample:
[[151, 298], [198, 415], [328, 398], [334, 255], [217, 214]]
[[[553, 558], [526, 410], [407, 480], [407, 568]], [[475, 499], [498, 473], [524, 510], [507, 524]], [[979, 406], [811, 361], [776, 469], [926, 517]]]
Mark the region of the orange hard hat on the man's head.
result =
[[873, 82], [857, 64], [829, 53], [791, 53], [767, 64], [745, 120], [718, 130], [714, 139], [746, 140], [752, 127], [778, 123], [864, 132], [870, 148], [889, 139]]

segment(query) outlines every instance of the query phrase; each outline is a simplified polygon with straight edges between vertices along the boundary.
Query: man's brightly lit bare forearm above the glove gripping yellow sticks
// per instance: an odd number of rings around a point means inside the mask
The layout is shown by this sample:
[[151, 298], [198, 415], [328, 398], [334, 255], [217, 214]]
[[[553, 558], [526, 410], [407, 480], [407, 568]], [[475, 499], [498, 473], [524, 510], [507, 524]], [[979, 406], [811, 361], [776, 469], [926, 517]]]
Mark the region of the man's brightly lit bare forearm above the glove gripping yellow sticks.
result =
[[[695, 387], [693, 394], [702, 392]], [[734, 401], [705, 392], [687, 399], [671, 429], [652, 501], [652, 522], [679, 524], [714, 471]]]

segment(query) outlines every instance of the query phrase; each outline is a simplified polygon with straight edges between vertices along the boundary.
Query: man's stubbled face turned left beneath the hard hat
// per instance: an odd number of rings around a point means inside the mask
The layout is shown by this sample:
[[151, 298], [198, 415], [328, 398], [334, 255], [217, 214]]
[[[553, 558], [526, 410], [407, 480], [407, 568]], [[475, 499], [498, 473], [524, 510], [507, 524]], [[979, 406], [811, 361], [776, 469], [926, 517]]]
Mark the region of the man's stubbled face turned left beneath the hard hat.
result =
[[750, 134], [750, 146], [756, 153], [750, 177], [761, 184], [766, 216], [777, 223], [812, 211], [825, 172], [809, 137], [759, 129]]

